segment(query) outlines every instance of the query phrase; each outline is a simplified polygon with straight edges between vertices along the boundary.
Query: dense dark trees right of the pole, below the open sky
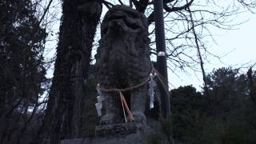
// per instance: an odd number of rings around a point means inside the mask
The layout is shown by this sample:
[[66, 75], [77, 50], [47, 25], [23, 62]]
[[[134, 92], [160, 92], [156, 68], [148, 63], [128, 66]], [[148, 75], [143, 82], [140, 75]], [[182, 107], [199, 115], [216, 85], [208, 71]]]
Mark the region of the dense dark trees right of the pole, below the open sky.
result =
[[255, 143], [256, 106], [246, 75], [221, 68], [206, 78], [211, 105], [192, 86], [171, 90], [173, 138], [197, 144]]

